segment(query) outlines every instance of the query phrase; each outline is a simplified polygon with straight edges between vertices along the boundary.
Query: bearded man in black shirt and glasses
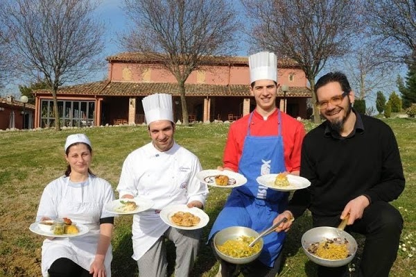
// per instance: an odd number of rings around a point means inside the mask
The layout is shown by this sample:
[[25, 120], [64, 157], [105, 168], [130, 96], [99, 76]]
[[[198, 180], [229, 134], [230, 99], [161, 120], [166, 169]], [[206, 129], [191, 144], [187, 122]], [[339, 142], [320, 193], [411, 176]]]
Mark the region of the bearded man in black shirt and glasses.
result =
[[[300, 217], [309, 209], [313, 227], [338, 226], [365, 235], [358, 276], [387, 277], [397, 257], [403, 219], [388, 202], [404, 190], [399, 148], [391, 128], [360, 115], [354, 92], [341, 72], [322, 76], [315, 85], [317, 106], [326, 121], [304, 138], [300, 176], [311, 186], [297, 190], [288, 210], [275, 219]], [[279, 230], [288, 230], [292, 222]], [[318, 276], [347, 276], [345, 267], [318, 267]]]

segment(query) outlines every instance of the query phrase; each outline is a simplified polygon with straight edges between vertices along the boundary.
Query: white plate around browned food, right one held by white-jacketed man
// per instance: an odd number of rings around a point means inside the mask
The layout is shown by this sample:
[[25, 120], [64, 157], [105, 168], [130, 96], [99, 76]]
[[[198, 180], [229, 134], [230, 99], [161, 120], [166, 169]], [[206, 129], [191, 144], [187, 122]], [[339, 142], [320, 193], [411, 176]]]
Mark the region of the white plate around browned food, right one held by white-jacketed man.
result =
[[[191, 226], [191, 227], [176, 225], [173, 223], [173, 221], [171, 221], [171, 217], [176, 212], [191, 212], [191, 214], [200, 218], [200, 222], [196, 226]], [[163, 208], [160, 211], [159, 215], [160, 215], [160, 218], [164, 221], [164, 223], [168, 224], [169, 226], [172, 226], [178, 229], [183, 229], [183, 230], [195, 230], [195, 229], [202, 228], [206, 226], [209, 221], [208, 215], [203, 210], [201, 210], [200, 208], [196, 208], [196, 207], [188, 208], [187, 205], [170, 205], [168, 207]]]

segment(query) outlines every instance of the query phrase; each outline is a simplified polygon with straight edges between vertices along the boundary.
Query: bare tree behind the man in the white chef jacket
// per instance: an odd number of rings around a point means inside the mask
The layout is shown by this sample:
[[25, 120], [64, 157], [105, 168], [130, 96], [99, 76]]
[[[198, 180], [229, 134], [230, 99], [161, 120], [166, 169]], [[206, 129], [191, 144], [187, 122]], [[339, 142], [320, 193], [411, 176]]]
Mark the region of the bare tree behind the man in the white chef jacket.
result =
[[226, 0], [125, 0], [130, 32], [121, 38], [129, 51], [146, 53], [149, 60], [175, 76], [180, 89], [184, 125], [188, 125], [185, 82], [210, 57], [236, 48], [236, 12]]

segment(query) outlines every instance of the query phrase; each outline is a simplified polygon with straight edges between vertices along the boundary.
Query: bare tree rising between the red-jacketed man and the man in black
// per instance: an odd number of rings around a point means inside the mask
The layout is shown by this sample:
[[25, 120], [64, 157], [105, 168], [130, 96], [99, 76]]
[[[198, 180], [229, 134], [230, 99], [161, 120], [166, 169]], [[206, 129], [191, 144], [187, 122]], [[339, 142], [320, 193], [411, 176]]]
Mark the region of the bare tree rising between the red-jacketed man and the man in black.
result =
[[357, 31], [359, 3], [356, 0], [241, 0], [255, 24], [252, 42], [291, 58], [304, 70], [312, 90], [313, 120], [320, 121], [315, 106], [315, 77], [330, 58], [349, 51]]

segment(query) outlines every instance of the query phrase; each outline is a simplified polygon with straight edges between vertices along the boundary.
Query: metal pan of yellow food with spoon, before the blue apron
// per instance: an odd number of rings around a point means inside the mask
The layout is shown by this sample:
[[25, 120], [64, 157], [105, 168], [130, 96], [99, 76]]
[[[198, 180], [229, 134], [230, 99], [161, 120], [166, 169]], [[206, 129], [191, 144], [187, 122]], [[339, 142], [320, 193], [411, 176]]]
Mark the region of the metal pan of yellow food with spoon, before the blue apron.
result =
[[263, 249], [263, 239], [260, 238], [254, 246], [249, 244], [259, 233], [251, 228], [232, 226], [220, 230], [214, 236], [214, 249], [217, 255], [233, 264], [246, 264], [256, 260]]

